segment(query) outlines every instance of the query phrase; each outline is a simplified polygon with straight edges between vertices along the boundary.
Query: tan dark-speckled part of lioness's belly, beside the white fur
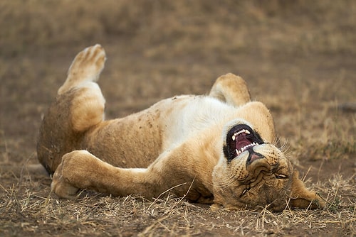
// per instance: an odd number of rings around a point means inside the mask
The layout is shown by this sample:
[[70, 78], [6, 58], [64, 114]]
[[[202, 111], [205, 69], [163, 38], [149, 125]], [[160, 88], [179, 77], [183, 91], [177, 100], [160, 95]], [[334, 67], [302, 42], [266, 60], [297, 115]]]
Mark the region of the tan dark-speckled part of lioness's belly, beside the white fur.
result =
[[162, 132], [154, 118], [142, 116], [100, 123], [88, 131], [82, 149], [117, 167], [147, 167], [162, 152]]

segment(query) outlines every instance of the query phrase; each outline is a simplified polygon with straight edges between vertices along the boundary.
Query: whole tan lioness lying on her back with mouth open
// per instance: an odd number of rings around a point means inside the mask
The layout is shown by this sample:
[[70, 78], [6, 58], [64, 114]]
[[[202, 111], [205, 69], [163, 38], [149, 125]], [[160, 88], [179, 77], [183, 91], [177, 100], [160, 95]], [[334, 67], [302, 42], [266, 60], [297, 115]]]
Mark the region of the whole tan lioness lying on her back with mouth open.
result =
[[101, 45], [78, 53], [43, 117], [37, 155], [58, 197], [91, 189], [147, 199], [174, 194], [237, 210], [325, 206], [278, 148], [270, 111], [251, 101], [241, 77], [229, 73], [209, 94], [175, 96], [105, 120], [96, 83], [105, 60]]

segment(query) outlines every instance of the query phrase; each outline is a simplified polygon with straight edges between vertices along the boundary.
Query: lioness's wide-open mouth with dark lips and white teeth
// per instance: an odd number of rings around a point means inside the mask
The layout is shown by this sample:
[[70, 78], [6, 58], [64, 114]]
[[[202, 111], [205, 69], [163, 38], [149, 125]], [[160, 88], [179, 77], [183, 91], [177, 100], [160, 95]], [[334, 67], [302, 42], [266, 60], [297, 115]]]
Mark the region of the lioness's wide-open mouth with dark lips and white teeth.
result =
[[250, 126], [238, 124], [231, 128], [226, 136], [227, 154], [225, 155], [228, 160], [232, 160], [246, 150], [251, 153], [254, 146], [261, 144], [263, 144], [261, 136]]

